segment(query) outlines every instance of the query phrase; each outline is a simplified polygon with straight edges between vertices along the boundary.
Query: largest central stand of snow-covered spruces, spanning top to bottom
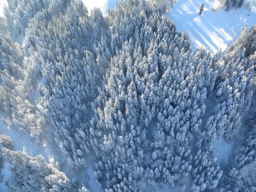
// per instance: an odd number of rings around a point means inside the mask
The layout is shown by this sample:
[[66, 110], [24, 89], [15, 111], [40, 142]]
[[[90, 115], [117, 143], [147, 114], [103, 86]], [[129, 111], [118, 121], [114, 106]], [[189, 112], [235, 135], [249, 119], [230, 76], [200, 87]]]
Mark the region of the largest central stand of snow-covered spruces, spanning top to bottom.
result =
[[108, 191], [146, 190], [152, 181], [174, 186], [191, 170], [188, 138], [200, 132], [217, 68], [143, 1], [120, 2], [111, 17], [116, 55], [93, 104], [94, 175]]

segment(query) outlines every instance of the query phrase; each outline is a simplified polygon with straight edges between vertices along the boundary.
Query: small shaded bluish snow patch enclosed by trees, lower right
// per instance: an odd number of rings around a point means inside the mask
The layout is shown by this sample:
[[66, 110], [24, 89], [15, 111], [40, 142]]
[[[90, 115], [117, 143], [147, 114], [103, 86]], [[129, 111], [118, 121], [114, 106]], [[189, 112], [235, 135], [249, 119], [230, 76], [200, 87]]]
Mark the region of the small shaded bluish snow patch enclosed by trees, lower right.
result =
[[227, 143], [222, 137], [213, 140], [214, 141], [214, 155], [217, 157], [217, 163], [228, 163], [229, 157], [232, 152], [233, 143]]

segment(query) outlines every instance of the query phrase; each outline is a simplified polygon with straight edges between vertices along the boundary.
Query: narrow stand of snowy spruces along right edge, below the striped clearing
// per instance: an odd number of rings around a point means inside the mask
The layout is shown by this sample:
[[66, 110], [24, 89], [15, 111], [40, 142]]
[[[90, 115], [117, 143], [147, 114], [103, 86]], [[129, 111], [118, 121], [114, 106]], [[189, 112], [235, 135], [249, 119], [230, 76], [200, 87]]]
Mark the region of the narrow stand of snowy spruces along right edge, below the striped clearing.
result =
[[255, 40], [246, 39], [255, 39], [254, 33], [255, 27], [249, 33], [246, 33], [245, 28], [218, 64], [220, 75], [216, 88], [219, 103], [205, 126], [208, 138], [216, 138], [218, 134], [226, 140], [232, 140], [238, 132], [241, 113], [250, 106]]

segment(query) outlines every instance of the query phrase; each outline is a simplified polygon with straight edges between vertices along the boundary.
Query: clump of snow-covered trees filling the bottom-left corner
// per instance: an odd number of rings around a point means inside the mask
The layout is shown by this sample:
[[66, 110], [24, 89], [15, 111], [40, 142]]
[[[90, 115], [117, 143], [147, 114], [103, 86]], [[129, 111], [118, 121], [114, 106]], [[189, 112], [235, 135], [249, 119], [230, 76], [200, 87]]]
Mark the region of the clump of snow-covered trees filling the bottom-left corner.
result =
[[12, 166], [11, 177], [6, 181], [10, 191], [75, 191], [75, 183], [65, 173], [59, 172], [44, 157], [13, 151], [10, 138], [0, 135], [0, 160], [7, 160]]

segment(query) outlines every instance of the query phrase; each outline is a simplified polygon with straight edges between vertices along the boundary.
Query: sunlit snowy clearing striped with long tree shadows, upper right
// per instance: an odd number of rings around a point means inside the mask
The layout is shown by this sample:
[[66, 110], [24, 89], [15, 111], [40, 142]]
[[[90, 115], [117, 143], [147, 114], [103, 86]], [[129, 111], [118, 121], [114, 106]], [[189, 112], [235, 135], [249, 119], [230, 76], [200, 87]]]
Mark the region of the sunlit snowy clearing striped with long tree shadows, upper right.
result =
[[[201, 3], [204, 11], [199, 15]], [[246, 24], [248, 28], [256, 24], [256, 1], [253, 0], [251, 10], [246, 6], [225, 11], [220, 9], [219, 0], [178, 0], [167, 15], [179, 31], [189, 34], [193, 50], [205, 47], [216, 53], [236, 40]]]

